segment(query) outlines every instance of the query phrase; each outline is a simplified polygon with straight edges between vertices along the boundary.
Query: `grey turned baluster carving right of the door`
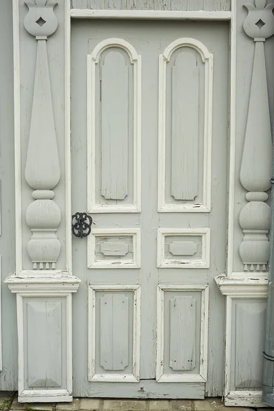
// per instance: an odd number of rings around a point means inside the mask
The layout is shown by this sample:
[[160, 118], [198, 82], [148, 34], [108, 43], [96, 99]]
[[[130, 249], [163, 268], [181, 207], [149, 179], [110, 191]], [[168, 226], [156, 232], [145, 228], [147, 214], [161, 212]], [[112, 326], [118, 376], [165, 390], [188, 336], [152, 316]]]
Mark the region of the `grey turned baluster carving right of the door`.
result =
[[243, 23], [247, 36], [255, 42], [253, 72], [245, 143], [240, 168], [240, 182], [248, 191], [248, 203], [240, 212], [239, 223], [244, 233], [240, 257], [244, 271], [266, 271], [269, 260], [271, 209], [264, 202], [271, 187], [272, 141], [269, 99], [266, 82], [264, 41], [274, 34], [274, 4], [255, 0], [245, 5], [248, 14]]

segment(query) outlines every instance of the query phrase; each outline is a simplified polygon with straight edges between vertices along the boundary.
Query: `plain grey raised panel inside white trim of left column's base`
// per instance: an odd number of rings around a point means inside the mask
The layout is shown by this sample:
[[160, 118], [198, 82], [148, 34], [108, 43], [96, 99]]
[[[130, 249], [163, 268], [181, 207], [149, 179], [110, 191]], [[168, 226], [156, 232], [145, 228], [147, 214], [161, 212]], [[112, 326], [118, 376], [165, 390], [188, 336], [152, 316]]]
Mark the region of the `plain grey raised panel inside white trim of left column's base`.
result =
[[27, 301], [28, 386], [62, 385], [62, 314], [60, 301]]

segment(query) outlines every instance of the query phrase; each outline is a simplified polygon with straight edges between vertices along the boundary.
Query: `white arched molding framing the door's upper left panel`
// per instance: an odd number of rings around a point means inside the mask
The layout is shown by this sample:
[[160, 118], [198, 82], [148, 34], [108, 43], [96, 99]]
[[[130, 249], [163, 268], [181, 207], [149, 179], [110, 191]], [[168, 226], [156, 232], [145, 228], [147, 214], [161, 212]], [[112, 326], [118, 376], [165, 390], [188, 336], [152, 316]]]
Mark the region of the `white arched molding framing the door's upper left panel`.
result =
[[[107, 49], [118, 48], [124, 50], [129, 56], [130, 64], [133, 66], [133, 140], [134, 140], [134, 170], [133, 170], [133, 201], [132, 203], [123, 203], [123, 199], [127, 196], [127, 181], [123, 181], [122, 187], [125, 192], [122, 197], [112, 197], [110, 192], [105, 197], [105, 203], [99, 203], [96, 200], [96, 168], [95, 168], [95, 140], [96, 140], [96, 66], [99, 65], [101, 53]], [[88, 142], [88, 212], [140, 212], [141, 210], [141, 171], [140, 171], [140, 156], [141, 156], [141, 57], [138, 55], [134, 47], [129, 42], [122, 38], [107, 38], [101, 41], [90, 55], [87, 57], [87, 142]], [[103, 139], [104, 140], [104, 139]], [[122, 140], [123, 141], [123, 140]], [[127, 136], [124, 143], [127, 144]], [[125, 144], [125, 145], [126, 145]], [[105, 148], [110, 145], [110, 142], [105, 141]], [[127, 151], [127, 149], [125, 150]], [[119, 151], [116, 151], [116, 156]], [[123, 161], [123, 159], [121, 159]], [[120, 160], [120, 161], [121, 161]], [[111, 171], [111, 167], [109, 167]], [[123, 175], [127, 174], [127, 166], [124, 164]], [[101, 185], [108, 186], [110, 184], [109, 175], [102, 177]], [[122, 180], [122, 178], [121, 178]], [[120, 191], [123, 189], [120, 187]], [[109, 203], [109, 199], [122, 200], [118, 203]]]

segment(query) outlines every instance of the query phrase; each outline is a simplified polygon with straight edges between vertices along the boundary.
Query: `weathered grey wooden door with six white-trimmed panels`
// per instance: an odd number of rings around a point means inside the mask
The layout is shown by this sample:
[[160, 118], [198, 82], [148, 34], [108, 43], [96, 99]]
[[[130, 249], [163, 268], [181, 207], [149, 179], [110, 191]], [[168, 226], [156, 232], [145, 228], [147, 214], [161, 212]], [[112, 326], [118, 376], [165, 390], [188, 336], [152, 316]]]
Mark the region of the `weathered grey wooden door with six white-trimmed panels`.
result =
[[73, 212], [93, 219], [73, 238], [74, 395], [221, 390], [227, 39], [225, 23], [73, 21]]

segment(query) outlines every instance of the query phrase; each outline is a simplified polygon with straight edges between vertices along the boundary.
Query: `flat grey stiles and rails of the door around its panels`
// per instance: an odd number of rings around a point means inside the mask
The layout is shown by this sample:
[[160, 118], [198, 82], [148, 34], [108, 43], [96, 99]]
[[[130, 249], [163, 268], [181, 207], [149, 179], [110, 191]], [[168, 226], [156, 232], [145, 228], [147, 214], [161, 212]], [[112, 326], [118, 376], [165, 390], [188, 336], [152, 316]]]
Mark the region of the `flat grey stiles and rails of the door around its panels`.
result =
[[[209, 335], [209, 360], [208, 360], [208, 375], [210, 375], [207, 387], [209, 395], [221, 395], [223, 390], [223, 336], [224, 329], [224, 299], [216, 287], [214, 287], [213, 278], [225, 269], [225, 253], [212, 253], [210, 262], [210, 271], [203, 272], [198, 269], [182, 270], [167, 268], [157, 270], [156, 261], [156, 241], [157, 228], [160, 227], [208, 227], [216, 233], [212, 236], [211, 247], [219, 249], [221, 244], [225, 243], [225, 156], [227, 140], [227, 99], [222, 99], [222, 95], [227, 95], [227, 39], [228, 26], [225, 23], [212, 23], [208, 29], [208, 23], [191, 23], [186, 22], [184, 25], [180, 22], [153, 22], [153, 30], [151, 30], [151, 22], [127, 23], [122, 24], [119, 21], [80, 21], [73, 20], [72, 23], [72, 55], [71, 55], [71, 113], [72, 113], [72, 156], [73, 156], [73, 210], [83, 210], [86, 208], [86, 55], [92, 53], [92, 50], [99, 44], [102, 39], [108, 38], [126, 38], [142, 58], [142, 212], [135, 213], [116, 213], [114, 214], [95, 214], [94, 231], [96, 229], [123, 229], [124, 227], [140, 227], [141, 229], [141, 247], [142, 247], [142, 262], [140, 270], [124, 269], [110, 270], [101, 269], [100, 273], [97, 269], [86, 269], [86, 245], [73, 239], [73, 271], [79, 273], [83, 283], [86, 282], [94, 285], [115, 286], [117, 284], [140, 284], [141, 285], [141, 335], [140, 335], [140, 383], [111, 383], [97, 382], [90, 384], [87, 381], [87, 373], [83, 373], [87, 367], [87, 352], [88, 344], [86, 335], [87, 327], [87, 290], [86, 287], [79, 288], [75, 295], [74, 304], [74, 327], [75, 327], [75, 343], [73, 345], [74, 356], [77, 358], [75, 368], [73, 370], [73, 382], [75, 395], [97, 395], [98, 397], [108, 395], [113, 397], [165, 397], [176, 398], [183, 397], [201, 398], [204, 395], [201, 393], [200, 384], [158, 384], [155, 382], [155, 329], [156, 329], [156, 291], [157, 285], [160, 284], [207, 284], [210, 282], [210, 320]], [[164, 34], [162, 31], [164, 30]], [[161, 38], [163, 36], [163, 38]], [[164, 51], [175, 38], [191, 37], [197, 38], [199, 41], [206, 44], [212, 51], [216, 51], [214, 55], [214, 132], [212, 134], [212, 173], [218, 176], [218, 184], [212, 185], [212, 201], [214, 201], [214, 209], [210, 216], [199, 215], [193, 216], [191, 213], [182, 215], [177, 213], [158, 213], [157, 212], [157, 192], [158, 192], [158, 73], [159, 73], [159, 53]], [[216, 39], [218, 38], [219, 47], [215, 48]], [[221, 40], [220, 40], [221, 39]], [[219, 43], [220, 42], [220, 43]], [[215, 68], [215, 67], [214, 67]], [[169, 88], [169, 99], [171, 98], [171, 88]], [[216, 97], [217, 96], [217, 97]], [[219, 96], [219, 97], [218, 97]], [[170, 107], [170, 104], [169, 104]], [[171, 114], [167, 116], [171, 119]], [[217, 119], [217, 121], [216, 121]], [[223, 138], [220, 138], [223, 136]], [[97, 147], [98, 148], [98, 147]], [[171, 151], [170, 157], [171, 157]], [[130, 161], [129, 161], [130, 163]], [[171, 175], [171, 159], [169, 158], [169, 175]], [[223, 221], [223, 223], [222, 223]], [[171, 236], [172, 237], [172, 236]], [[99, 239], [97, 239], [99, 240]], [[172, 238], [174, 240], [183, 241], [182, 238]], [[193, 236], [188, 241], [196, 242]], [[117, 242], [117, 238], [112, 241]], [[100, 243], [106, 242], [103, 235]], [[123, 240], [123, 242], [125, 242]], [[101, 246], [100, 244], [100, 246]], [[98, 245], [99, 246], [99, 245]], [[168, 245], [169, 247], [169, 245]], [[100, 251], [99, 251], [100, 252]], [[199, 253], [197, 247], [197, 253]], [[128, 257], [128, 254], [127, 254]], [[191, 256], [190, 256], [191, 257]], [[104, 256], [107, 260], [108, 256]], [[123, 260], [123, 257], [122, 257]], [[171, 297], [169, 297], [171, 298]], [[212, 304], [211, 301], [214, 301]], [[117, 302], [117, 301], [116, 301]], [[199, 308], [196, 303], [196, 314], [199, 318]], [[193, 307], [191, 308], [190, 319], [193, 318]], [[220, 315], [220, 313], [222, 313]], [[174, 314], [174, 313], [172, 313]], [[187, 315], [188, 315], [187, 314]], [[170, 326], [169, 306], [164, 312], [164, 321], [167, 327]], [[81, 319], [81, 321], [79, 321]], [[97, 317], [98, 319], [98, 317]], [[173, 316], [175, 320], [175, 317]], [[197, 322], [198, 321], [198, 322]], [[195, 336], [196, 340], [196, 356], [195, 356], [195, 372], [199, 366], [199, 319], [196, 320], [197, 328]], [[132, 318], [129, 316], [129, 338], [132, 339]], [[173, 329], [176, 325], [173, 323]], [[99, 326], [98, 326], [99, 329]], [[123, 333], [126, 334], [126, 333]], [[174, 334], [174, 333], [173, 333]], [[181, 332], [182, 335], [182, 332]], [[174, 336], [175, 337], [175, 336]], [[99, 336], [97, 334], [97, 347], [99, 344]], [[129, 341], [130, 341], [129, 339]], [[175, 337], [176, 339], [176, 337]], [[193, 339], [192, 339], [193, 341]], [[173, 347], [177, 347], [176, 340], [173, 340]], [[166, 347], [167, 357], [169, 357], [169, 333], [164, 336], [164, 345]], [[191, 345], [191, 347], [193, 344]], [[108, 344], [110, 347], [110, 344]], [[107, 347], [105, 347], [107, 348]], [[130, 344], [129, 352], [132, 350]], [[190, 350], [188, 351], [190, 352]], [[214, 353], [214, 356], [211, 354]], [[166, 355], [166, 354], [165, 354]], [[176, 354], [177, 355], [177, 354]], [[100, 360], [100, 354], [97, 351], [97, 364]], [[182, 358], [181, 354], [179, 354]], [[129, 355], [129, 358], [131, 356]], [[169, 359], [162, 358], [166, 366], [169, 367]], [[118, 358], [118, 357], [117, 357]], [[176, 358], [175, 358], [176, 359]], [[110, 359], [109, 363], [116, 359]], [[188, 358], [187, 358], [188, 360]], [[129, 369], [130, 369], [129, 362]], [[175, 365], [174, 365], [175, 366]], [[181, 366], [181, 364], [179, 364]], [[170, 369], [171, 370], [171, 369]], [[127, 371], [125, 369], [124, 371]], [[172, 370], [171, 370], [172, 371]], [[194, 370], [185, 370], [186, 374], [193, 374]], [[99, 370], [97, 369], [97, 372]], [[102, 369], [102, 373], [105, 373]], [[172, 371], [172, 373], [181, 374], [182, 370]], [[110, 373], [110, 371], [108, 371]], [[112, 371], [114, 373], [114, 371]], [[122, 374], [123, 370], [119, 371]], [[152, 381], [147, 381], [152, 379]], [[142, 387], [142, 388], [141, 388]], [[203, 384], [204, 387], [204, 384]]]

